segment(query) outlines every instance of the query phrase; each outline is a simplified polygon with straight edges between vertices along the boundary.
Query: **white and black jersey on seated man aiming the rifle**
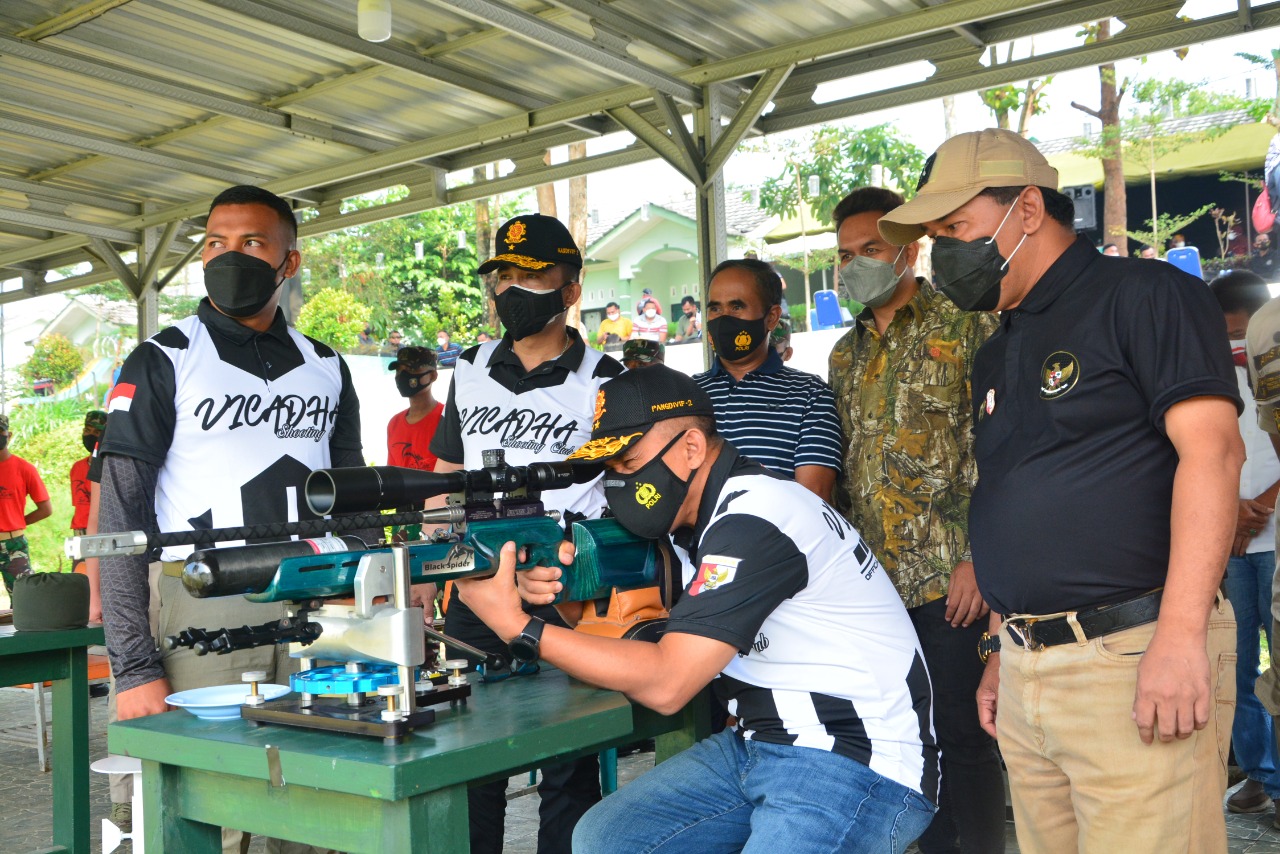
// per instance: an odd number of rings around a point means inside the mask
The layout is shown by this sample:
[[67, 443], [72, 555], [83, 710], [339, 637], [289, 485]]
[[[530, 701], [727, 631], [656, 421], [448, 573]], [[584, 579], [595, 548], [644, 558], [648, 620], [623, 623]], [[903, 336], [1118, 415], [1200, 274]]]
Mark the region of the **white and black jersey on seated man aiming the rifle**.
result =
[[739, 650], [713, 688], [744, 737], [831, 750], [936, 802], [920, 644], [858, 531], [726, 443], [676, 540], [692, 566], [667, 631]]

